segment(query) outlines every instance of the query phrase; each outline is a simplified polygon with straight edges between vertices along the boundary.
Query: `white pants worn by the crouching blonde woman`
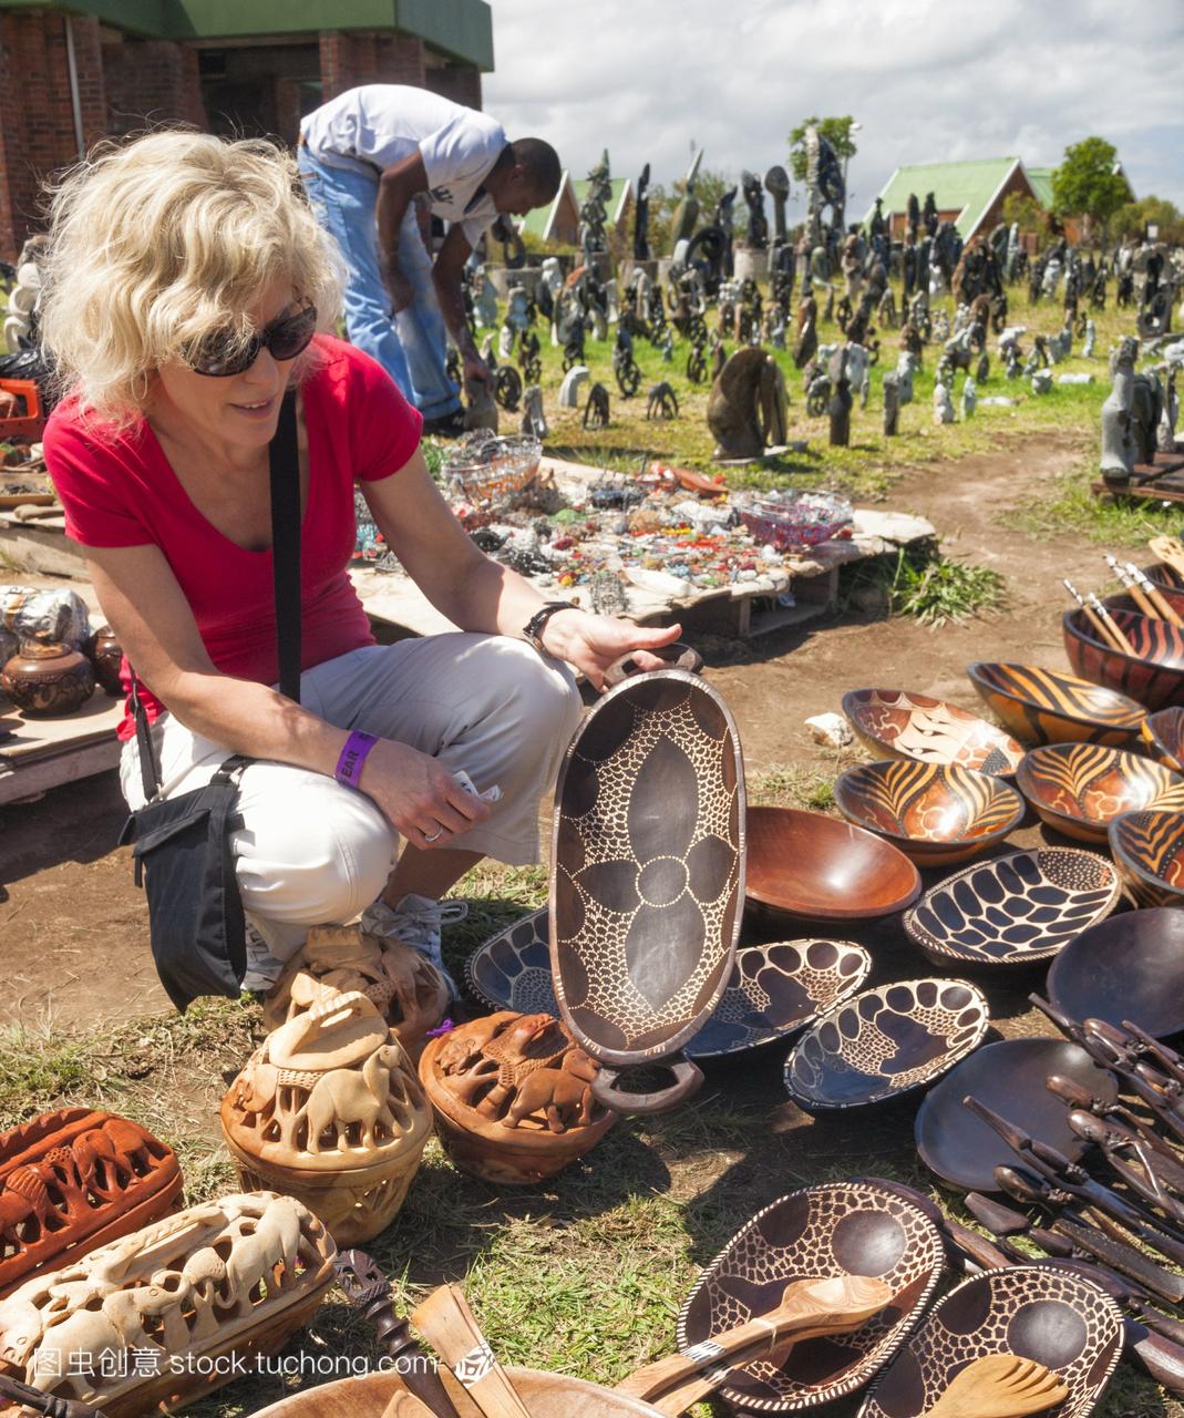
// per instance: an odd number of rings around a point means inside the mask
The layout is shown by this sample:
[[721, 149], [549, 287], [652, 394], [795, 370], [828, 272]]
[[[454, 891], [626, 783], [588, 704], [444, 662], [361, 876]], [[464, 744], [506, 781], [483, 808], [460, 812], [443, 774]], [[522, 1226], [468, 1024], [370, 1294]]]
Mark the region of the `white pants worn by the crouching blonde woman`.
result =
[[[457, 838], [458, 851], [510, 865], [539, 859], [539, 800], [580, 718], [574, 676], [501, 635], [431, 635], [366, 645], [301, 676], [301, 702], [339, 729], [362, 729], [464, 769], [478, 791], [502, 797]], [[173, 715], [153, 726], [164, 797], [203, 787], [228, 750]], [[123, 746], [121, 787], [143, 805], [136, 743]], [[346, 922], [374, 900], [394, 865], [398, 834], [356, 788], [286, 763], [251, 763], [240, 778], [242, 827], [233, 835], [248, 919], [286, 960], [309, 926]], [[440, 848], [448, 851], [448, 848]]]

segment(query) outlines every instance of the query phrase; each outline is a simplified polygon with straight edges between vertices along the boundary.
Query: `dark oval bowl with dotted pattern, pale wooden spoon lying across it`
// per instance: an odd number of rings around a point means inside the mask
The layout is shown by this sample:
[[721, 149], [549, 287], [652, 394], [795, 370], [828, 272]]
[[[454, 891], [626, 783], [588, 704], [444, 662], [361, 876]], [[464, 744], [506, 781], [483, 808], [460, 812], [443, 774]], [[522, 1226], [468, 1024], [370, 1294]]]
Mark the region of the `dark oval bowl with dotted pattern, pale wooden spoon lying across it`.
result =
[[875, 1180], [804, 1187], [757, 1212], [699, 1276], [678, 1317], [678, 1347], [709, 1340], [777, 1305], [791, 1280], [868, 1275], [892, 1303], [851, 1334], [794, 1344], [781, 1364], [737, 1368], [720, 1390], [744, 1412], [793, 1412], [855, 1392], [903, 1344], [946, 1252], [910, 1201]]

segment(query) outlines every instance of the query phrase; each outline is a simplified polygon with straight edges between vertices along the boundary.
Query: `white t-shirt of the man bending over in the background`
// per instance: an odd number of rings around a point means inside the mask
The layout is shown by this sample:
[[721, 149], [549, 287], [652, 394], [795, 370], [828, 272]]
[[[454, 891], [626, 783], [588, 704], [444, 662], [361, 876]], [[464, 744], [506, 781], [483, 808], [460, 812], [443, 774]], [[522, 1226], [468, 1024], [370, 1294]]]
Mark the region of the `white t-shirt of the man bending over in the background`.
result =
[[322, 104], [301, 122], [301, 136], [326, 166], [393, 167], [417, 149], [428, 174], [431, 210], [459, 223], [469, 245], [498, 216], [476, 189], [506, 146], [501, 123], [428, 89], [363, 84]]

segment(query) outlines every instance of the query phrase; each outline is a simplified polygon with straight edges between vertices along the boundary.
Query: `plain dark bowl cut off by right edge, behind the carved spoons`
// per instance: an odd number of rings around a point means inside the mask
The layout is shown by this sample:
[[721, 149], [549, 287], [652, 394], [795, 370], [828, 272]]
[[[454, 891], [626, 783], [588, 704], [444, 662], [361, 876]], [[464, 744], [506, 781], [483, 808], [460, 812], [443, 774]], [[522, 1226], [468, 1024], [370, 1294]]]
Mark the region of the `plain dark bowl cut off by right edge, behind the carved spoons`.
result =
[[1052, 961], [1048, 998], [1075, 1020], [1130, 1020], [1157, 1039], [1184, 1029], [1184, 912], [1129, 910]]

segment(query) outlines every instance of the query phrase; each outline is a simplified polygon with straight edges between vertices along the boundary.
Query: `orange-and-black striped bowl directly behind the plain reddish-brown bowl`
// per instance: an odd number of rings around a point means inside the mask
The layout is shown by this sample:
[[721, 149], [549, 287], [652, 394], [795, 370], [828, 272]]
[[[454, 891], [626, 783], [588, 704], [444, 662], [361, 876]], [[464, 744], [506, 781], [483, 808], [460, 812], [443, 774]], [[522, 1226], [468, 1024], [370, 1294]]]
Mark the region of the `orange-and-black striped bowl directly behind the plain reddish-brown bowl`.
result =
[[848, 821], [886, 838], [919, 866], [985, 852], [1024, 821], [1010, 784], [959, 763], [861, 763], [835, 783]]

